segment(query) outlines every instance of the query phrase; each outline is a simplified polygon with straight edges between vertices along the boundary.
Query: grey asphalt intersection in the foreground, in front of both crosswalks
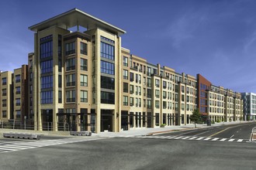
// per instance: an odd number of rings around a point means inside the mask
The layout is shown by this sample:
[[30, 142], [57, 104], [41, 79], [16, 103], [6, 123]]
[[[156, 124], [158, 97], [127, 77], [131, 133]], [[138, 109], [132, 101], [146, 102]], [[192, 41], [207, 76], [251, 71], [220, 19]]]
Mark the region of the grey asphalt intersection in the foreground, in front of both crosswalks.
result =
[[256, 169], [256, 144], [109, 138], [1, 155], [0, 169]]

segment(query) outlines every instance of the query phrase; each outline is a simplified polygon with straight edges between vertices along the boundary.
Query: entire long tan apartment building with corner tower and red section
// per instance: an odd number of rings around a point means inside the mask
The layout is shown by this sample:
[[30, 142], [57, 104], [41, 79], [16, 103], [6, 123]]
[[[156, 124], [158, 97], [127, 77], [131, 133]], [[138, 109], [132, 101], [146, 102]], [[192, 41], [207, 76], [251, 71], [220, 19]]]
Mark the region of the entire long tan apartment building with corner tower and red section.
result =
[[77, 8], [29, 29], [28, 66], [0, 74], [1, 120], [99, 133], [190, 124], [196, 108], [204, 121], [242, 117], [240, 93], [148, 63], [121, 46], [123, 29]]

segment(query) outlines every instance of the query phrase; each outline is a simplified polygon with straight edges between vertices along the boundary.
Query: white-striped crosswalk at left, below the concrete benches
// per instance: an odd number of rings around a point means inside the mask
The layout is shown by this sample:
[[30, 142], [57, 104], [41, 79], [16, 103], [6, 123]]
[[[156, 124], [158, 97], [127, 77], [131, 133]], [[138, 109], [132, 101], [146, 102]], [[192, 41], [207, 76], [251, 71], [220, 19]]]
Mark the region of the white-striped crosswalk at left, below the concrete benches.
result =
[[[41, 141], [7, 141], [0, 143], [0, 154], [10, 151], [21, 151], [31, 148], [41, 148], [52, 145], [71, 144], [81, 141], [94, 141], [100, 138], [61, 138], [55, 140], [41, 140]], [[103, 138], [101, 138], [103, 139]]]

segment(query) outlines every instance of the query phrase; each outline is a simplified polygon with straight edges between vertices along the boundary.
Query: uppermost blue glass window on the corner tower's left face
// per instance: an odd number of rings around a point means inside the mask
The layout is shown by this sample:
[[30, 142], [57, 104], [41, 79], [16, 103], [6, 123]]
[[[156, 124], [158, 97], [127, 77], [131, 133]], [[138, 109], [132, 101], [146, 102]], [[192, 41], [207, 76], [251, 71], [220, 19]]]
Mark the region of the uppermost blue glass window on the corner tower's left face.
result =
[[40, 58], [53, 56], [53, 36], [46, 36], [40, 39]]

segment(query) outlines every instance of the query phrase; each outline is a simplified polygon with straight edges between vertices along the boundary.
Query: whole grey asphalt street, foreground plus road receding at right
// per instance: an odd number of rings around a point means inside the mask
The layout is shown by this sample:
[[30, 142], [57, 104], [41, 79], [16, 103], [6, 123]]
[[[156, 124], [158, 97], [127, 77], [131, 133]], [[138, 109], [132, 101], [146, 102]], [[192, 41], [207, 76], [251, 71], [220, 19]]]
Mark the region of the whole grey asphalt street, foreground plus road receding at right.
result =
[[[32, 148], [2, 152], [0, 169], [255, 169], [256, 143], [247, 138], [254, 126], [237, 124], [127, 138], [16, 141], [5, 147]], [[178, 138], [181, 136], [187, 138]]]

